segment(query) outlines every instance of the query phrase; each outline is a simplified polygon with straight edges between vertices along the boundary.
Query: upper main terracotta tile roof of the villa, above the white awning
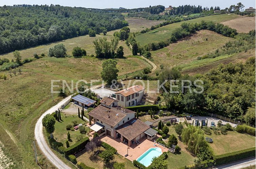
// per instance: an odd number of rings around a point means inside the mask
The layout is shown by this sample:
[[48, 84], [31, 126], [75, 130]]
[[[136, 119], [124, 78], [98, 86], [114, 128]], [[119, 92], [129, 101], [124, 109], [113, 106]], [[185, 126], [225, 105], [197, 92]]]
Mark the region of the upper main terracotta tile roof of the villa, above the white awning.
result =
[[125, 116], [126, 114], [120, 110], [115, 108], [107, 108], [102, 105], [99, 105], [95, 109], [93, 109], [90, 113], [90, 116], [107, 123], [110, 126], [117, 125]]

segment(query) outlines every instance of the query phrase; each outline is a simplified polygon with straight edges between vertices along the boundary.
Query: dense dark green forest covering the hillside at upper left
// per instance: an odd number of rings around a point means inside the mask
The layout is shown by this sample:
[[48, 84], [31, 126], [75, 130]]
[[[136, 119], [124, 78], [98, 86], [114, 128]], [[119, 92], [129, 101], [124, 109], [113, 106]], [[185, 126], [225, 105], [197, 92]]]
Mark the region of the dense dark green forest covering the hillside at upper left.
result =
[[127, 26], [121, 13], [60, 5], [0, 7], [0, 54]]

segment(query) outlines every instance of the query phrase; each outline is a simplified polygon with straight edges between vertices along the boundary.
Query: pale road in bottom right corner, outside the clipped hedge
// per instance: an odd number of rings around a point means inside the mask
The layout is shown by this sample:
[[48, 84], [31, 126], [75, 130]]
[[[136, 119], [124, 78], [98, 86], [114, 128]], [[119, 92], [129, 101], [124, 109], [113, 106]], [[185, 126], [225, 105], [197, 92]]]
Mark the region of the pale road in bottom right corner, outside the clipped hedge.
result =
[[242, 159], [237, 162], [233, 162], [229, 164], [224, 164], [214, 169], [240, 169], [244, 167], [250, 167], [252, 165], [255, 165], [255, 157]]

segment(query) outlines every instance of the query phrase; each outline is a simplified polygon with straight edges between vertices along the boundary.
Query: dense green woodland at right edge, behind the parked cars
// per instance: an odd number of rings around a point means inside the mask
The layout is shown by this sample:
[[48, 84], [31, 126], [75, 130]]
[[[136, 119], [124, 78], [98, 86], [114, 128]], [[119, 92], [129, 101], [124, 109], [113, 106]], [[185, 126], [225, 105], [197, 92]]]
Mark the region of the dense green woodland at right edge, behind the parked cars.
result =
[[[182, 91], [181, 80], [203, 80], [202, 93], [190, 93], [187, 88], [183, 93], [164, 93], [164, 102], [168, 109], [179, 110], [180, 113], [194, 112], [198, 115], [214, 113], [233, 119], [245, 121], [255, 125], [255, 58], [249, 58], [245, 63], [229, 63], [219, 65], [217, 69], [205, 75], [181, 75], [177, 69], [165, 69], [159, 74], [160, 83], [164, 79], [179, 79], [173, 84], [178, 88], [173, 91]], [[170, 91], [169, 84], [165, 84]], [[201, 83], [197, 83], [200, 84]], [[188, 86], [188, 84], [185, 84]], [[191, 89], [202, 91], [192, 84]]]

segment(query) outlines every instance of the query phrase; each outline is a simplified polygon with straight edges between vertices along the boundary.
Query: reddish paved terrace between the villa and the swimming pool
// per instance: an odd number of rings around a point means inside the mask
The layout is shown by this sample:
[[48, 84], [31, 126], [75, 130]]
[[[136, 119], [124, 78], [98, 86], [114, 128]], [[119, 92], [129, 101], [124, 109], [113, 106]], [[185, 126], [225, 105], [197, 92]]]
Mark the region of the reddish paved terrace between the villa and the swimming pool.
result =
[[[125, 156], [127, 154], [128, 145], [122, 143], [120, 141], [120, 139], [114, 139], [114, 138], [111, 138], [111, 137], [105, 135], [101, 138], [101, 140], [103, 142], [106, 142], [110, 146], [114, 147], [120, 155]], [[150, 140], [148, 140], [146, 138], [140, 140], [140, 142], [141, 142], [141, 144], [139, 144], [139, 145], [132, 144], [131, 147], [129, 147], [128, 156], [126, 158], [129, 159], [130, 161], [137, 159], [144, 152], [146, 152], [149, 148], [159, 147], [162, 149], [162, 152], [168, 151], [168, 148], [163, 147], [157, 143], [156, 143], [156, 146], [154, 146], [154, 142], [151, 142]]]

